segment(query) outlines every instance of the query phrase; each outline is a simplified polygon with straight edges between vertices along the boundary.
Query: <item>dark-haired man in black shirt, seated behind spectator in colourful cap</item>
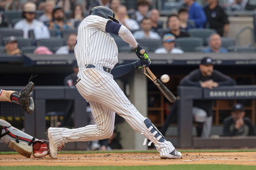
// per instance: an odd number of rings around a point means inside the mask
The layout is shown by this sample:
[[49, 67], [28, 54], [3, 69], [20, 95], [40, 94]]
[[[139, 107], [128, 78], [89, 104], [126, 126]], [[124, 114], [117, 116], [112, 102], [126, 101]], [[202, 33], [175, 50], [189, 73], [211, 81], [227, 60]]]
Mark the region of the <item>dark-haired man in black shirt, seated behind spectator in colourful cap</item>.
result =
[[176, 39], [190, 36], [187, 32], [180, 31], [180, 19], [175, 14], [169, 16], [168, 27], [171, 29], [171, 33], [175, 36]]

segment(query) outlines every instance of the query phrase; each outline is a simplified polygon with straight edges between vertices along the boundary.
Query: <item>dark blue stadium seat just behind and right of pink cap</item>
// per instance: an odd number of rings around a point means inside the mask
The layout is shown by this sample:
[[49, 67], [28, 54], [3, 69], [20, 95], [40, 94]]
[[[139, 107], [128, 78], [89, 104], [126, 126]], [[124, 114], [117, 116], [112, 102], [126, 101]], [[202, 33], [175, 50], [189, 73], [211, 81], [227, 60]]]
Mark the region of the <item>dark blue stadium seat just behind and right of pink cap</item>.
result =
[[64, 41], [63, 39], [59, 38], [50, 38], [50, 39], [37, 39], [36, 40], [36, 45], [37, 46], [46, 46], [48, 47], [51, 51], [55, 47], [63, 46]]

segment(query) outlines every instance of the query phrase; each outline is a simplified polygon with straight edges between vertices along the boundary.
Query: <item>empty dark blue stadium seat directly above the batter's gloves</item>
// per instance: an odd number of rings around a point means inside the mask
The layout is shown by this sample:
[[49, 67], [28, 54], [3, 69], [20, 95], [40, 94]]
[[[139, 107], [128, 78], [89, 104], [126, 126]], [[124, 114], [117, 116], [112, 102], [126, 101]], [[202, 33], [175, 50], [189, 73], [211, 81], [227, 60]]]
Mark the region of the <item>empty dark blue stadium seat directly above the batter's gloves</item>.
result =
[[162, 41], [159, 39], [136, 39], [142, 47], [147, 46], [148, 52], [154, 52], [157, 48], [162, 47]]

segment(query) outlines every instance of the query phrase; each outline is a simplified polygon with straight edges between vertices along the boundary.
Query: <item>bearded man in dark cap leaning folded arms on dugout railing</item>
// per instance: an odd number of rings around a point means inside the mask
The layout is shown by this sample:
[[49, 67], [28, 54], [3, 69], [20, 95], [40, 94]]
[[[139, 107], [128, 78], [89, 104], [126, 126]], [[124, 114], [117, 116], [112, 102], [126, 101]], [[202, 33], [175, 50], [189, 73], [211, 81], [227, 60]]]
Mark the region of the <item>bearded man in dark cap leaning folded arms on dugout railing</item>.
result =
[[[236, 81], [225, 74], [213, 69], [212, 59], [204, 57], [201, 60], [199, 68], [189, 73], [180, 81], [182, 86], [197, 86], [213, 89], [219, 86], [236, 85]], [[194, 100], [192, 114], [196, 122], [196, 131], [198, 137], [208, 138], [212, 127], [212, 100]]]

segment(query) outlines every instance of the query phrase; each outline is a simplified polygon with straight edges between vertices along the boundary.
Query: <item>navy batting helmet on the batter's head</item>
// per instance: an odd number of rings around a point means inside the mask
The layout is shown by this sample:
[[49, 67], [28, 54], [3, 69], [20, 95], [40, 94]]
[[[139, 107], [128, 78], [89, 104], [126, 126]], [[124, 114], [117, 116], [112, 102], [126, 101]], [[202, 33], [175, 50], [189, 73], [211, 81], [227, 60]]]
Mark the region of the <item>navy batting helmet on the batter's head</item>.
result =
[[111, 19], [114, 22], [119, 24], [117, 19], [115, 19], [115, 13], [111, 9], [104, 7], [104, 6], [96, 6], [96, 7], [92, 8], [89, 15], [98, 15], [98, 16], [106, 18], [106, 19]]

